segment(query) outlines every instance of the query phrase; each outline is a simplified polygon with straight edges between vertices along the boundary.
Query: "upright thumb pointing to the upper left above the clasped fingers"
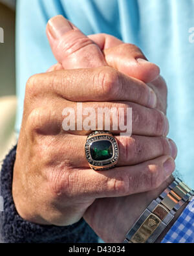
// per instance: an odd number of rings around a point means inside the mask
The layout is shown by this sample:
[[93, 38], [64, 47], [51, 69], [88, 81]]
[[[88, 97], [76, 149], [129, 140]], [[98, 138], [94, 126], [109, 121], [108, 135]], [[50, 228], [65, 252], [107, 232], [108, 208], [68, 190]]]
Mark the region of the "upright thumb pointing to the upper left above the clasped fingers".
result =
[[107, 65], [98, 45], [61, 15], [48, 21], [47, 37], [56, 60], [64, 69]]

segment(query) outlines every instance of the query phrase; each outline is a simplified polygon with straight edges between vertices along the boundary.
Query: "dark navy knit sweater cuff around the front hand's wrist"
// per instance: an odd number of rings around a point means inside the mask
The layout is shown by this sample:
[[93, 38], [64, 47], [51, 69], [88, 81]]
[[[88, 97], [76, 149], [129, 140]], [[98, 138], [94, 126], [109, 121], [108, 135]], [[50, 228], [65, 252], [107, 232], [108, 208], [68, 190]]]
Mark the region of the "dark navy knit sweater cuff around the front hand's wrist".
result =
[[0, 196], [3, 197], [4, 211], [0, 212], [0, 242], [10, 243], [54, 243], [54, 242], [98, 242], [98, 237], [86, 222], [67, 227], [43, 226], [21, 218], [12, 198], [12, 177], [16, 148], [6, 156], [1, 169]]

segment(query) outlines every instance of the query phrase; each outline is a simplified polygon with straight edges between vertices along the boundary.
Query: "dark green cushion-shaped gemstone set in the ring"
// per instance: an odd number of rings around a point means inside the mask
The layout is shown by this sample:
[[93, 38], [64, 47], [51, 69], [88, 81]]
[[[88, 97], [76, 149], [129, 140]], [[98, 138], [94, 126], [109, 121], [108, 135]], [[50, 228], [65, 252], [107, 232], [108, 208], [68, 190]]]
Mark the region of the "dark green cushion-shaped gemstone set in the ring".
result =
[[90, 151], [94, 161], [103, 161], [113, 157], [113, 145], [111, 141], [93, 141]]

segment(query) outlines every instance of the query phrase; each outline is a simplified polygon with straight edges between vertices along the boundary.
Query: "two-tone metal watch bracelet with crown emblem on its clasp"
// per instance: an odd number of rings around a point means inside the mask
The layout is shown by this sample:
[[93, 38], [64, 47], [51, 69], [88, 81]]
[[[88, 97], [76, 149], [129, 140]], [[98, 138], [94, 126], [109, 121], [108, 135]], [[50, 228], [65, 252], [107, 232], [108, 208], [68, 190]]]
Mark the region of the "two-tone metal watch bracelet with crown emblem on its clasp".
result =
[[182, 180], [176, 178], [148, 205], [125, 236], [124, 243], [153, 243], [173, 220], [175, 213], [194, 195]]

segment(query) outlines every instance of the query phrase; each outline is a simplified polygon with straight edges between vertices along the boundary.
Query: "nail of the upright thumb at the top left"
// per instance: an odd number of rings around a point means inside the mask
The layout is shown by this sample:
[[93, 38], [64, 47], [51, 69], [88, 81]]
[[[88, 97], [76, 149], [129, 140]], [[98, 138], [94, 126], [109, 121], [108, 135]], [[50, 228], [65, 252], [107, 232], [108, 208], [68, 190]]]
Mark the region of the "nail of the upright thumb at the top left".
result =
[[61, 15], [52, 17], [52, 19], [48, 21], [48, 30], [54, 39], [60, 38], [63, 34], [72, 29], [72, 25], [69, 21]]

